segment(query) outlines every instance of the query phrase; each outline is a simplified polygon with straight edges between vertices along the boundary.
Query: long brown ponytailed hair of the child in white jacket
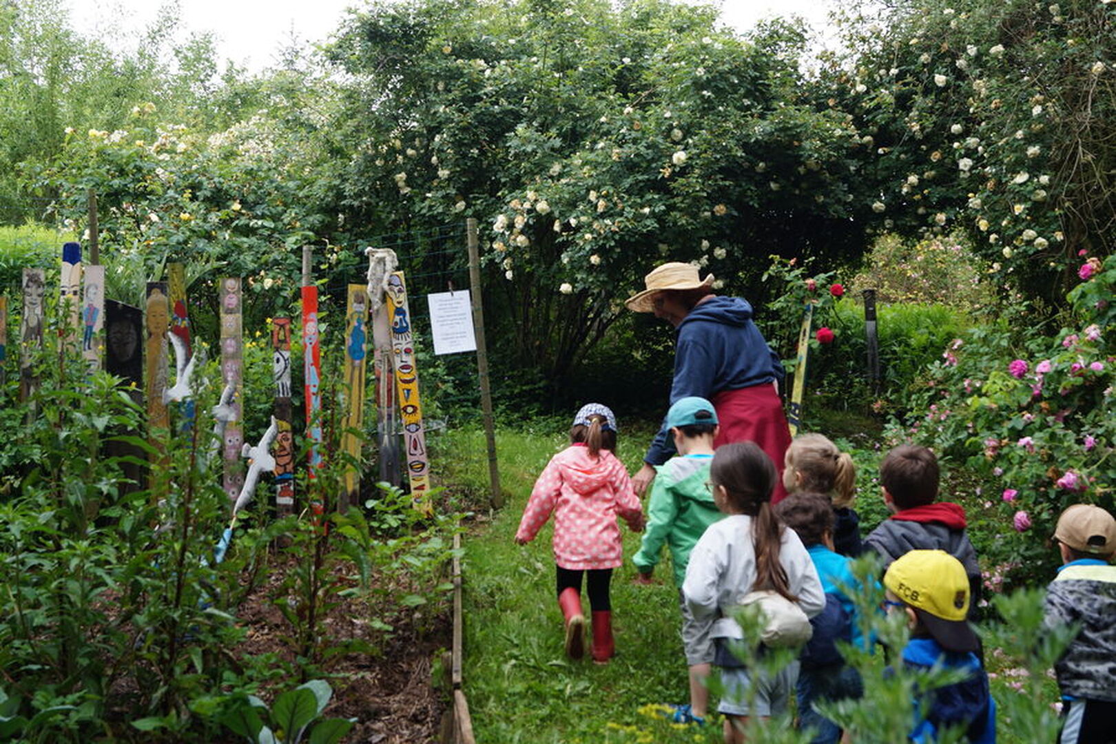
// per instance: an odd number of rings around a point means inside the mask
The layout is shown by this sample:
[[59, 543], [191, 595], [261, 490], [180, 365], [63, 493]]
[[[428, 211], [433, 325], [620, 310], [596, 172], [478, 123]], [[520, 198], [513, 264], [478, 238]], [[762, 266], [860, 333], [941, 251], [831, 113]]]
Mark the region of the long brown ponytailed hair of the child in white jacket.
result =
[[778, 477], [775, 463], [754, 442], [718, 447], [709, 468], [710, 482], [724, 489], [733, 512], [754, 518], [751, 534], [756, 552], [754, 589], [771, 589], [793, 602], [798, 597], [790, 592], [787, 571], [779, 561], [783, 526], [771, 508], [771, 492]]

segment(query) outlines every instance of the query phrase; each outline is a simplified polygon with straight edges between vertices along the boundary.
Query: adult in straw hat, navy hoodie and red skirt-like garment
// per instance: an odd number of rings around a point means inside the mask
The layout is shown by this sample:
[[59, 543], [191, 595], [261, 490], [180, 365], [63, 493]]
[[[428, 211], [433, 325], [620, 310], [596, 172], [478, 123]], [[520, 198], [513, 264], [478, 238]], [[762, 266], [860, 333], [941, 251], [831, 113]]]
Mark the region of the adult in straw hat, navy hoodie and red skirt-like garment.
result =
[[[647, 288], [625, 305], [635, 312], [654, 312], [679, 331], [671, 404], [691, 395], [712, 400], [721, 423], [714, 446], [749, 441], [760, 445], [779, 468], [771, 500], [778, 502], [786, 495], [782, 467], [790, 446], [790, 428], [776, 387], [783, 369], [752, 322], [752, 306], [738, 297], [718, 297], [713, 276], [700, 279], [689, 263], [664, 263], [644, 281]], [[655, 466], [673, 454], [664, 423], [632, 479], [636, 493], [646, 490]]]

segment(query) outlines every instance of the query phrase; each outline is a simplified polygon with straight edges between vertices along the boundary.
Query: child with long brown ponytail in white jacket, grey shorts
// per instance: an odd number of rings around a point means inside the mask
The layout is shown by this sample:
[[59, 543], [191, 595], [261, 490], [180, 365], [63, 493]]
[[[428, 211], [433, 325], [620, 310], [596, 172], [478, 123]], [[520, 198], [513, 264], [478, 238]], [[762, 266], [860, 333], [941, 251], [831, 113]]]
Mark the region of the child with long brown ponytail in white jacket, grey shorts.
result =
[[[747, 669], [725, 653], [732, 640], [743, 639], [743, 630], [731, 617], [733, 610], [759, 601], [769, 618], [763, 642], [791, 645], [796, 636], [806, 642], [810, 635], [807, 618], [826, 605], [802, 541], [779, 523], [771, 508], [777, 480], [775, 463], [757, 444], [718, 448], [710, 466], [710, 487], [727, 516], [711, 524], [694, 545], [682, 586], [694, 618], [711, 624], [710, 637], [718, 645], [714, 666], [724, 685], [718, 709], [725, 716], [729, 744], [743, 742], [749, 716], [785, 713], [798, 678], [798, 661], [770, 675]], [[757, 600], [758, 595], [762, 599]]]

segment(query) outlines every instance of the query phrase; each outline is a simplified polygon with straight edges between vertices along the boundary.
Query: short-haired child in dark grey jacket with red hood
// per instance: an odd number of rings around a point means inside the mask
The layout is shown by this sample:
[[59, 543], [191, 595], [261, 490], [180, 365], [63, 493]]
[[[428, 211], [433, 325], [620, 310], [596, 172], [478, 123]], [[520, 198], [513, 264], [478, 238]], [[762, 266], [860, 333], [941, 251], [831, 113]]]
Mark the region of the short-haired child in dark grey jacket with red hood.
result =
[[969, 577], [969, 618], [974, 619], [981, 595], [977, 551], [965, 532], [960, 504], [937, 501], [937, 457], [926, 447], [901, 445], [879, 465], [879, 485], [892, 515], [865, 538], [864, 544], [884, 560], [884, 570], [912, 550], [944, 550]]

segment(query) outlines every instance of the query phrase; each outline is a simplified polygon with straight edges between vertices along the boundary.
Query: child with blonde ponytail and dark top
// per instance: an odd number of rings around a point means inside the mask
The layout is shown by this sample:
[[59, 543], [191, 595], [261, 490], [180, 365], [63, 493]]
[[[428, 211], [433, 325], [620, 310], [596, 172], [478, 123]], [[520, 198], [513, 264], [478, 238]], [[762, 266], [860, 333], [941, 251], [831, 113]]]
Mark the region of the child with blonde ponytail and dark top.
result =
[[782, 471], [787, 493], [820, 493], [834, 506], [834, 552], [859, 558], [860, 518], [853, 509], [856, 499], [856, 466], [847, 452], [821, 434], [802, 434], [787, 447]]

